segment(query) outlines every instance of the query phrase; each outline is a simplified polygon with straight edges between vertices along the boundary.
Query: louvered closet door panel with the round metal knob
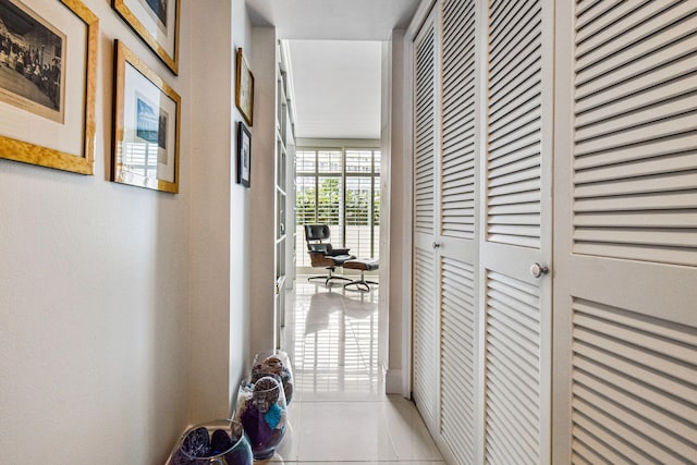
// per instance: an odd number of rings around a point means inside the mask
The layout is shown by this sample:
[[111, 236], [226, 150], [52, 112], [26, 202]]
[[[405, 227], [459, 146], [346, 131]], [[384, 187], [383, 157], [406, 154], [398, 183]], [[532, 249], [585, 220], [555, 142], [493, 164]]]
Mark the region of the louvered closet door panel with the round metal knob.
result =
[[553, 4], [487, 4], [478, 462], [549, 464]]

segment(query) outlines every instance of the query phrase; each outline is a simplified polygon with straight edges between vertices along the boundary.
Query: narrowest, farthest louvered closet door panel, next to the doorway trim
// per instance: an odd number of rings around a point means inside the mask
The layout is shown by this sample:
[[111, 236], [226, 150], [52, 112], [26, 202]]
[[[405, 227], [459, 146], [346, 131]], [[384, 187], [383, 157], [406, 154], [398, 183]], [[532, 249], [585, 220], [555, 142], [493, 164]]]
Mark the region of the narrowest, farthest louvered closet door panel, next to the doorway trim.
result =
[[432, 428], [437, 415], [439, 316], [436, 307], [436, 53], [433, 13], [414, 41], [414, 303], [412, 395]]

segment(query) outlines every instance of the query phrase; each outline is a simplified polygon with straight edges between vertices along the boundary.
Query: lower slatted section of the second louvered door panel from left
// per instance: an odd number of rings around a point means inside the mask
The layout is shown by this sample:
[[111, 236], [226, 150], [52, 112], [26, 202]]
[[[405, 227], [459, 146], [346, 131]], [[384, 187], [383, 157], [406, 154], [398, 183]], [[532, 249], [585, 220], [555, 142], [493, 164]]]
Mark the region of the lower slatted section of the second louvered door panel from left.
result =
[[443, 258], [441, 270], [440, 432], [460, 463], [475, 450], [474, 268]]

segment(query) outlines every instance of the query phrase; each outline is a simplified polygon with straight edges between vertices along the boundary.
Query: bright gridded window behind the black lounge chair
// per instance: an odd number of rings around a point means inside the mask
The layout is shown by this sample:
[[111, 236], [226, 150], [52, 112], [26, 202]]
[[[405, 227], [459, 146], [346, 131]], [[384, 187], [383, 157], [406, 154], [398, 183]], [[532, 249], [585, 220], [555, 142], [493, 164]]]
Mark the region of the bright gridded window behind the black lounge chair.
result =
[[360, 258], [377, 257], [380, 151], [299, 148], [296, 167], [297, 266], [310, 266], [305, 224], [328, 224], [335, 247], [348, 247]]

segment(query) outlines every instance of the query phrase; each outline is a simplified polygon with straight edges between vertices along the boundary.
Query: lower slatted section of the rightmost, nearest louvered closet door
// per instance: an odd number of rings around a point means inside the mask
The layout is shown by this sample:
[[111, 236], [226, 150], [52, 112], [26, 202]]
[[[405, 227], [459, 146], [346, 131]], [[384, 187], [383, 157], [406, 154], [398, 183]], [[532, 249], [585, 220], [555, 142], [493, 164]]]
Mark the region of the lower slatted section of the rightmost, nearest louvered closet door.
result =
[[695, 328], [583, 299], [574, 328], [575, 418], [629, 460], [697, 456]]

